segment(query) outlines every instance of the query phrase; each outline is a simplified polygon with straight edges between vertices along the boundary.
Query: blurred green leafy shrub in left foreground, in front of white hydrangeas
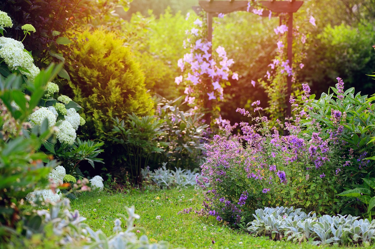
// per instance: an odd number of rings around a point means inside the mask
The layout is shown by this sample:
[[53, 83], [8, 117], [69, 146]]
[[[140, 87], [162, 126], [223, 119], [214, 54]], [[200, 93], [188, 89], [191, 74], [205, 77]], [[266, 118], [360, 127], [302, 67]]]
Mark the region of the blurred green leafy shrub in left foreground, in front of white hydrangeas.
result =
[[[48, 174], [57, 165], [55, 160], [38, 152], [43, 140], [52, 135], [48, 119], [31, 130], [27, 118], [44, 94], [44, 87], [60, 71], [62, 65], [49, 67], [27, 82], [28, 96], [21, 87], [21, 75], [0, 75], [0, 244], [24, 218], [24, 198], [36, 187], [48, 185]], [[17, 108], [12, 104], [14, 101]], [[46, 163], [48, 162], [48, 163]]]

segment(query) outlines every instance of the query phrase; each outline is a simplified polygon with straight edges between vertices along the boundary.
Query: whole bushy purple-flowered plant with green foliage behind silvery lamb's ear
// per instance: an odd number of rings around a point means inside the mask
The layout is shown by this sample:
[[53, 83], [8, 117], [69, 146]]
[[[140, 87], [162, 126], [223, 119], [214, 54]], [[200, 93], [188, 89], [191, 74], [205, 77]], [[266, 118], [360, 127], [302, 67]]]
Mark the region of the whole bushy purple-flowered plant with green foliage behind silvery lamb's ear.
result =
[[[310, 89], [307, 84], [303, 89], [300, 98], [307, 105]], [[262, 109], [259, 101], [252, 105], [254, 111]], [[321, 213], [339, 212], [342, 203], [335, 195], [343, 183], [339, 172], [345, 167], [340, 140], [345, 113], [332, 112], [329, 119], [333, 126], [325, 131], [316, 124], [306, 130], [300, 114], [285, 124], [278, 121], [289, 132], [281, 136], [277, 128], [270, 127], [267, 117], [253, 117], [244, 109], [237, 111], [254, 122], [240, 123], [242, 138], [215, 135], [212, 144], [206, 146], [207, 163], [201, 166], [198, 184], [205, 189], [204, 205], [210, 215], [236, 225], [263, 206], [293, 205]], [[326, 133], [331, 136], [326, 137]], [[210, 183], [210, 187], [204, 183]]]

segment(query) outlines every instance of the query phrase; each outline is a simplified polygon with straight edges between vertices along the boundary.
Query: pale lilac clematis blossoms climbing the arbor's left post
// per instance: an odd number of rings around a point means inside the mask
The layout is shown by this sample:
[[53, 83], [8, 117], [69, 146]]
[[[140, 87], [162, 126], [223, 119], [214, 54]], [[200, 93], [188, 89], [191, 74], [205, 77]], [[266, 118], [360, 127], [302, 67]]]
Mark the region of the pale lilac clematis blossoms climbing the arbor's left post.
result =
[[[223, 14], [220, 14], [219, 17], [223, 18]], [[229, 69], [234, 61], [227, 57], [225, 49], [218, 46], [215, 56], [211, 54], [212, 43], [200, 38], [203, 37], [203, 22], [198, 18], [194, 25], [195, 27], [185, 32], [190, 36], [184, 41], [184, 48], [189, 49], [189, 52], [177, 61], [177, 66], [185, 75], [175, 78], [177, 85], [184, 84], [185, 101], [190, 105], [196, 105], [198, 98], [222, 100], [225, 81], [229, 81], [229, 77], [239, 79], [239, 75]], [[210, 85], [206, 85], [207, 83]], [[201, 91], [202, 88], [208, 91]]]

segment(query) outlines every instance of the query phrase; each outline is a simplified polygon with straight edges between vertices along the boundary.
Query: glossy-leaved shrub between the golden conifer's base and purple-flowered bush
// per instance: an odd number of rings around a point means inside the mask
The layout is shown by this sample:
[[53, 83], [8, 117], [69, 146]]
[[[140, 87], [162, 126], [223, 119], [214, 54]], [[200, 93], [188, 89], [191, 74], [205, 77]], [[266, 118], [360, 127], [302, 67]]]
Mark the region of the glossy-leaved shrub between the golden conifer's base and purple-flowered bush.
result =
[[[162, 131], [168, 149], [150, 158], [151, 168], [160, 167], [164, 162], [169, 167], [198, 168], [205, 162], [205, 148], [203, 136], [207, 134], [208, 125], [202, 123], [203, 114], [194, 113], [187, 109], [186, 101], [182, 97], [166, 100], [157, 96], [156, 114], [165, 122]], [[186, 110], [187, 109], [187, 110]]]

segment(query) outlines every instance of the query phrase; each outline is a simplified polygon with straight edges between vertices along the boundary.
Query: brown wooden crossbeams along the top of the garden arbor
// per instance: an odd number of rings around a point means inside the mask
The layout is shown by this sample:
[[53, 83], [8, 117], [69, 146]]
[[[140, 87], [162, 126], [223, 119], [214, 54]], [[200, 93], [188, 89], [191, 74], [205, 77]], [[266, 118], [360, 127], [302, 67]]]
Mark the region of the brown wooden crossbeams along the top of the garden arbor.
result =
[[[274, 13], [293, 13], [302, 6], [303, 1], [259, 1], [267, 9]], [[200, 0], [199, 5], [205, 12], [210, 13], [231, 13], [235, 11], [246, 11], [248, 8], [248, 1], [213, 1], [213, 0]], [[250, 11], [252, 8], [250, 9]], [[267, 11], [266, 11], [267, 12]], [[264, 16], [268, 16], [268, 13]]]

